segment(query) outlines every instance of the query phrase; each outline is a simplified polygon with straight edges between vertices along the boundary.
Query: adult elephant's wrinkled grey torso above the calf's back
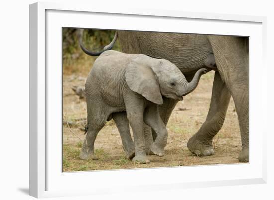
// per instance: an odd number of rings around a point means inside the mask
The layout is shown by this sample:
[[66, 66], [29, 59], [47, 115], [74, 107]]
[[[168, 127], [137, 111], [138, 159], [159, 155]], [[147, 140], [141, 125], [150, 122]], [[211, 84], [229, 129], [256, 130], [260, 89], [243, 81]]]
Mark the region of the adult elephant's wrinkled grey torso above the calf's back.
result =
[[123, 52], [167, 59], [184, 74], [203, 68], [212, 54], [206, 35], [135, 31], [119, 31], [118, 35]]

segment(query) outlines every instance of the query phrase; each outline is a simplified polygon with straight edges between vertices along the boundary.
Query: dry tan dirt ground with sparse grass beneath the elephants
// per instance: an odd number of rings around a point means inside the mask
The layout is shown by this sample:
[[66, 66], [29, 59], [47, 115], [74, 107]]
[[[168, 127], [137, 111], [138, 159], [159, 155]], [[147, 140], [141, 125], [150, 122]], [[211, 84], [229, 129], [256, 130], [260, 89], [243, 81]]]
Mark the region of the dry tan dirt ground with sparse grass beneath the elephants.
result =
[[[83, 72], [83, 71], [82, 71]], [[126, 159], [119, 132], [111, 120], [99, 132], [95, 141], [98, 160], [79, 159], [84, 128], [86, 102], [72, 91], [74, 85], [84, 86], [87, 71], [83, 74], [63, 75], [63, 171], [128, 169], [168, 166], [210, 165], [239, 163], [241, 138], [234, 102], [231, 99], [221, 131], [213, 140], [215, 154], [194, 156], [186, 146], [188, 139], [205, 121], [212, 91], [214, 72], [201, 77], [197, 89], [180, 101], [167, 124], [168, 141], [163, 157], [148, 156], [149, 164], [135, 164]]]

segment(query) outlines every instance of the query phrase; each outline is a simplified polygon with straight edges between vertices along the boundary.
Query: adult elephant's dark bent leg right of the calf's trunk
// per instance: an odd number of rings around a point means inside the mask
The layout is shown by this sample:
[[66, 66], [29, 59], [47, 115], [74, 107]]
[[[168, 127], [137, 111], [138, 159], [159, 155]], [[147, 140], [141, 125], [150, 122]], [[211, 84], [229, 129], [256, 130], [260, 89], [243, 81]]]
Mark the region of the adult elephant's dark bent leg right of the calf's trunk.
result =
[[221, 129], [230, 101], [231, 94], [222, 81], [219, 72], [215, 72], [212, 96], [206, 121], [199, 131], [187, 142], [188, 149], [197, 156], [214, 154], [212, 147], [213, 137]]

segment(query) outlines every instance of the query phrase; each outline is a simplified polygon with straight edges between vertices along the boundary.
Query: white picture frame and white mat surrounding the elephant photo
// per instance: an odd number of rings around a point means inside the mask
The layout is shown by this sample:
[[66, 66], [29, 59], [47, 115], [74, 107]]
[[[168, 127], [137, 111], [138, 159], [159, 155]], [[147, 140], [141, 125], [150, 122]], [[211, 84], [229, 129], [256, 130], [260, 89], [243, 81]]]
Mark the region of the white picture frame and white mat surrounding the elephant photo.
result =
[[[113, 18], [111, 23], [110, 17]], [[95, 20], [91, 21], [89, 18]], [[129, 19], [131, 23], [127, 22]], [[182, 23], [184, 28], [175, 26], [178, 23]], [[162, 24], [165, 26], [163, 27]], [[62, 173], [60, 168], [62, 27], [249, 36], [251, 100], [249, 163]], [[262, 70], [267, 71], [265, 56], [266, 17], [126, 7], [111, 9], [76, 3], [31, 4], [30, 195], [40, 198], [122, 193], [124, 190], [135, 191], [136, 188], [138, 191], [145, 191], [266, 183], [267, 142], [264, 136], [267, 130], [262, 127], [267, 127], [264, 126], [266, 123], [264, 116], [267, 116], [267, 87], [265, 87], [267, 74], [256, 74], [253, 70], [253, 66], [260, 65]], [[255, 75], [258, 84], [251, 81], [255, 79]], [[261, 91], [261, 95], [256, 95], [254, 91]], [[260, 119], [252, 115], [255, 112], [261, 113], [258, 115], [261, 116]], [[196, 177], [191, 176], [193, 172]], [[133, 179], [135, 182], [130, 182]], [[95, 180], [96, 183], [91, 183], [90, 180]], [[87, 183], [89, 183], [88, 187]]]

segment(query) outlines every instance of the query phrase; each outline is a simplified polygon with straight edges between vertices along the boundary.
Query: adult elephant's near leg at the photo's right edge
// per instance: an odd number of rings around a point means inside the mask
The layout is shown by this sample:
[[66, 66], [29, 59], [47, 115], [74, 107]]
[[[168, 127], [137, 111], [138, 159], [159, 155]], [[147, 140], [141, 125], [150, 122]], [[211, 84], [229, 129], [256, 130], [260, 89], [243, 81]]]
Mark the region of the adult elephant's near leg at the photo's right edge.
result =
[[208, 36], [216, 65], [235, 102], [238, 115], [242, 151], [240, 162], [249, 161], [249, 101], [248, 101], [248, 38], [233, 36]]

